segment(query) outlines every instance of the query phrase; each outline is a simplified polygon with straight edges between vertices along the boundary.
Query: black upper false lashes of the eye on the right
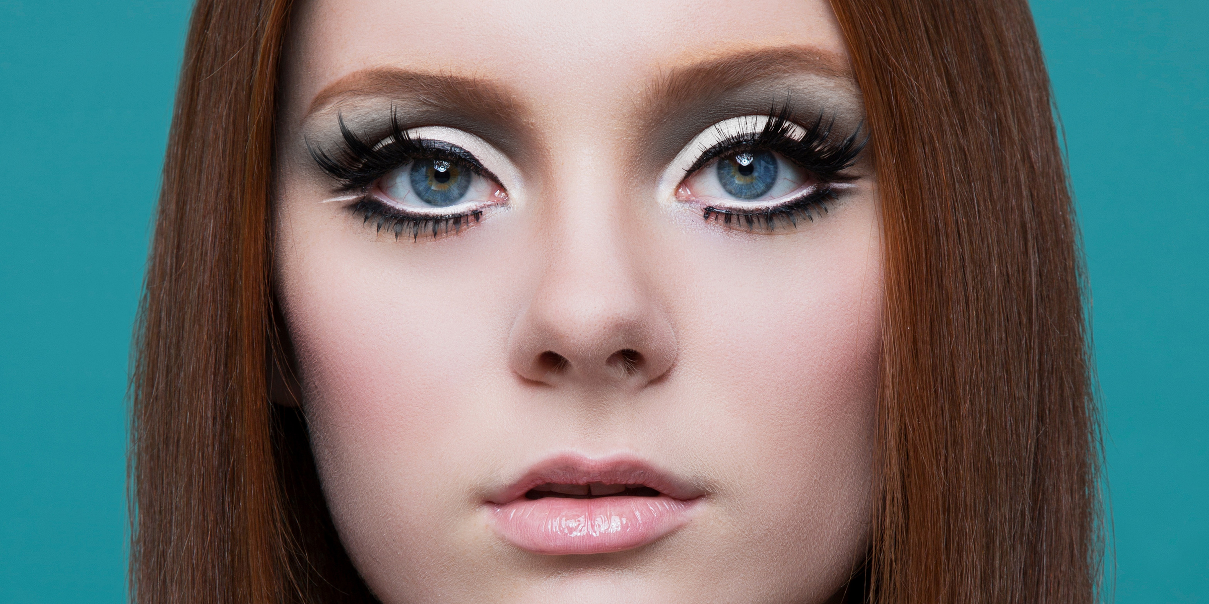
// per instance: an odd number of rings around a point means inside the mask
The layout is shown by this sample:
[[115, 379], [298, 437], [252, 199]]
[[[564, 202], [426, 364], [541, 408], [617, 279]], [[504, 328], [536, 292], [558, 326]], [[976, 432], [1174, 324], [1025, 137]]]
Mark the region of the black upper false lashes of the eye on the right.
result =
[[774, 105], [769, 110], [769, 116], [771, 117], [764, 122], [760, 132], [731, 134], [702, 151], [693, 165], [684, 170], [686, 175], [693, 174], [718, 157], [768, 150], [783, 155], [823, 182], [852, 180], [852, 176], [845, 175], [844, 170], [856, 164], [869, 141], [868, 134], [862, 137], [863, 122], [848, 137], [833, 140], [832, 129], [835, 120], [825, 123], [823, 115], [820, 114], [812, 124], [804, 128], [805, 133], [799, 139], [792, 135], [793, 130], [800, 127], [794, 123], [787, 106], [777, 109]]

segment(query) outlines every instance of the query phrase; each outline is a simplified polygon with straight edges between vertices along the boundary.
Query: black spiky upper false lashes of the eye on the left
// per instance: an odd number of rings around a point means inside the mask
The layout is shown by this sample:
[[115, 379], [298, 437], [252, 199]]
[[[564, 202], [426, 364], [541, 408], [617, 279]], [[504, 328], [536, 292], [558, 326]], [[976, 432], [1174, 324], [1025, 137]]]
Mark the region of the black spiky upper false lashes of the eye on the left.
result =
[[399, 126], [399, 116], [391, 111], [391, 128], [376, 145], [361, 140], [345, 123], [345, 117], [337, 116], [343, 147], [335, 153], [316, 149], [306, 141], [307, 151], [323, 172], [340, 182], [337, 191], [348, 192], [364, 190], [382, 178], [386, 173], [407, 164], [415, 159], [453, 159], [464, 162], [479, 175], [496, 182], [491, 170], [484, 168], [476, 157], [462, 147], [427, 139], [413, 139]]

